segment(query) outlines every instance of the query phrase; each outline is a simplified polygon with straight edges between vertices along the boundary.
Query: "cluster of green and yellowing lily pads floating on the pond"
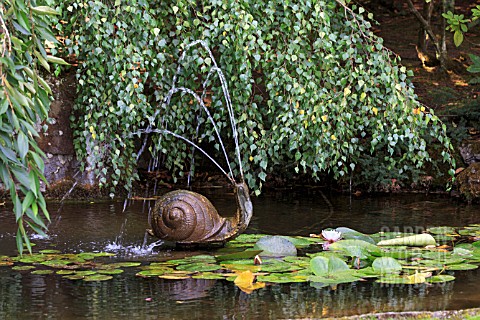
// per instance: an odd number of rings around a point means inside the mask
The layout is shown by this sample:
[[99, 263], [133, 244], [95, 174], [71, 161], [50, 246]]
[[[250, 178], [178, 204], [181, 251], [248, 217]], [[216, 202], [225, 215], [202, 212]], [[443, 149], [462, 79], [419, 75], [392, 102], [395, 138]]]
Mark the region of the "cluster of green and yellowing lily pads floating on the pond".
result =
[[83, 281], [109, 280], [125, 267], [136, 267], [138, 277], [225, 279], [251, 292], [266, 283], [309, 282], [323, 287], [368, 278], [389, 284], [439, 283], [454, 280], [452, 271], [480, 264], [480, 225], [427, 231], [366, 235], [337, 228], [309, 237], [243, 234], [209, 254], [148, 264], [99, 262], [97, 258], [113, 255], [104, 252], [41, 250], [23, 257], [0, 256], [0, 267]]

